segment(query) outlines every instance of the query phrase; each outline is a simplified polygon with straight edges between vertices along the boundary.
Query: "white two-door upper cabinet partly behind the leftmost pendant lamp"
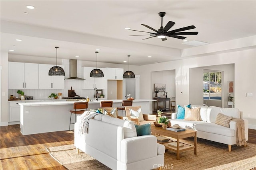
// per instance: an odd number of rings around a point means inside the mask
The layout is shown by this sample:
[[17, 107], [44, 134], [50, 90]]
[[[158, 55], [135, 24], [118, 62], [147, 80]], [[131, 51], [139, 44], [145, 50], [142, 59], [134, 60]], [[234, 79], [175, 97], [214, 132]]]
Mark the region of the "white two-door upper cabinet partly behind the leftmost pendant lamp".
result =
[[[48, 75], [53, 66], [55, 65], [39, 64], [39, 89], [64, 89], [64, 76]], [[60, 67], [64, 68], [64, 66]]]

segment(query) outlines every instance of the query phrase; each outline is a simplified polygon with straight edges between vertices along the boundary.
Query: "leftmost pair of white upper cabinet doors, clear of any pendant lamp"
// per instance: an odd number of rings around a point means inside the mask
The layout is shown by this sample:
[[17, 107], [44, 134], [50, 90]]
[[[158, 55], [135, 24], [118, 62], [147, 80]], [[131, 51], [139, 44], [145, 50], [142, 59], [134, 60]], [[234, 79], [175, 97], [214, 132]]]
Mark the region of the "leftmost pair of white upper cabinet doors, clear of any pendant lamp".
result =
[[38, 64], [9, 62], [9, 89], [38, 89]]

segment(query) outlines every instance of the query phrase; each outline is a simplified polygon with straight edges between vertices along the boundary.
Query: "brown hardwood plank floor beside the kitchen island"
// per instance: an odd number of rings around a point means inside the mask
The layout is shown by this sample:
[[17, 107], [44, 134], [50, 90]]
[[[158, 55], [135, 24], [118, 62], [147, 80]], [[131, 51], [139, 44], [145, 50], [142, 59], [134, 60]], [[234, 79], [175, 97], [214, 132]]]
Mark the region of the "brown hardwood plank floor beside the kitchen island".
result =
[[[256, 130], [249, 129], [248, 143], [256, 144]], [[72, 131], [22, 135], [20, 125], [0, 127], [0, 170], [66, 170], [47, 147], [74, 144]]]

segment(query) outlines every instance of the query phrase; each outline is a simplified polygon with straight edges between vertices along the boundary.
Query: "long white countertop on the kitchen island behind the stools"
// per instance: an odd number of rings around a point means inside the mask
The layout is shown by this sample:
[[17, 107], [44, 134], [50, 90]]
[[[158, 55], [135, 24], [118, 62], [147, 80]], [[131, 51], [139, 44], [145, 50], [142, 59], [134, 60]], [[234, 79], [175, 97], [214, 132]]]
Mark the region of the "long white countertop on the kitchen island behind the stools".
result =
[[[54, 99], [52, 99], [54, 100]], [[22, 101], [23, 100], [19, 100]], [[25, 100], [26, 103], [19, 103], [19, 105], [23, 105], [23, 106], [50, 106], [50, 105], [67, 105], [67, 104], [74, 104], [74, 102], [85, 102], [85, 101], [65, 101], [65, 100], [58, 100], [56, 99], [54, 102], [50, 102], [49, 100], [38, 100], [38, 102], [36, 102], [36, 100], [31, 100], [31, 102], [29, 102], [29, 100]], [[122, 100], [101, 100], [101, 101], [113, 101], [113, 103], [121, 103]], [[156, 100], [152, 100], [152, 99], [136, 99], [133, 100], [132, 102], [152, 102], [152, 101], [156, 101]], [[10, 101], [12, 102], [12, 101]], [[14, 101], [17, 102], [17, 101]], [[88, 102], [89, 104], [100, 104], [100, 101], [93, 101], [93, 102]]]

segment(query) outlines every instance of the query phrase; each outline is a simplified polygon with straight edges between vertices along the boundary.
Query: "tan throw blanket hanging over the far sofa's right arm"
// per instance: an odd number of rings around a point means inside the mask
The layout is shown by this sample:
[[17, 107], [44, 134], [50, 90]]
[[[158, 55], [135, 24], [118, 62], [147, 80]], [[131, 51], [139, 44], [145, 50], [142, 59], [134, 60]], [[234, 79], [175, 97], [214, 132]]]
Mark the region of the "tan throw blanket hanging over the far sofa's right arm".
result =
[[244, 134], [244, 120], [233, 118], [231, 121], [236, 122], [236, 145], [242, 146], [246, 144], [245, 134]]

